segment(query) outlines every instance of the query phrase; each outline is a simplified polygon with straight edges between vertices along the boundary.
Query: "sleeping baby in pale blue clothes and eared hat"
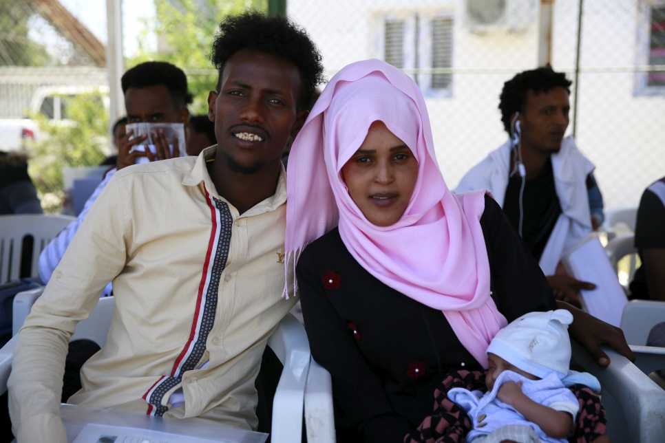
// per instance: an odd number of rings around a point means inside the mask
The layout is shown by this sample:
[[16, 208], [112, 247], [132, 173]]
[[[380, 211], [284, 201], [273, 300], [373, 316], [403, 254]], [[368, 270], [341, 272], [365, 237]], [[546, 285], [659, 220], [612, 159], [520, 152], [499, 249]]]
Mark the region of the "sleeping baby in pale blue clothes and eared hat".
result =
[[530, 312], [496, 334], [487, 348], [487, 393], [448, 392], [472, 420], [468, 442], [567, 442], [580, 407], [566, 386], [600, 392], [591, 374], [569, 371], [572, 321], [566, 310]]

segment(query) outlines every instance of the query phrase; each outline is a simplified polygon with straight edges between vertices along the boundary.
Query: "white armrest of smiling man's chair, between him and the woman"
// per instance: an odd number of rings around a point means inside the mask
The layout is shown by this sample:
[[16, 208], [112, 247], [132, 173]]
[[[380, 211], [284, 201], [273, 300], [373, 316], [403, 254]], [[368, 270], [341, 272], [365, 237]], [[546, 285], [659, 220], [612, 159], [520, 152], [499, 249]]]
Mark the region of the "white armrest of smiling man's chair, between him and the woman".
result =
[[268, 346], [284, 364], [273, 400], [273, 443], [302, 441], [302, 416], [305, 383], [310, 365], [310, 350], [304, 327], [292, 314], [286, 314]]

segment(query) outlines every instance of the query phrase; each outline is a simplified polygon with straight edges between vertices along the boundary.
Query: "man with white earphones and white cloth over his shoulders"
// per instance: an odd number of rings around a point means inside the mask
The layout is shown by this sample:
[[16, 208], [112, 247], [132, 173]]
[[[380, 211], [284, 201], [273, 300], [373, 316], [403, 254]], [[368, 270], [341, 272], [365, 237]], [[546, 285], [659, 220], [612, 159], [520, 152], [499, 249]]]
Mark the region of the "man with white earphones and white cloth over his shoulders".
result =
[[[499, 109], [509, 140], [467, 172], [455, 191], [492, 191], [538, 259], [554, 295], [579, 305], [577, 291], [595, 285], [566, 275], [560, 259], [591, 232], [589, 191], [596, 200], [600, 191], [593, 164], [571, 136], [564, 138], [570, 85], [549, 65], [507, 81]], [[602, 200], [600, 205], [602, 217]]]

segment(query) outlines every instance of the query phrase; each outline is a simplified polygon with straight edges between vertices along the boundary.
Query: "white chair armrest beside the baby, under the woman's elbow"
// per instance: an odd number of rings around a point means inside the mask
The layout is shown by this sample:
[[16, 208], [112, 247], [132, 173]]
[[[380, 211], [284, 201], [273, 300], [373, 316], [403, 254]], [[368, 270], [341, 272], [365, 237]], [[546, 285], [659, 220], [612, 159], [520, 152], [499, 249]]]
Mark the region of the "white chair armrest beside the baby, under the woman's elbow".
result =
[[[600, 380], [612, 440], [662, 442], [665, 435], [665, 391], [615, 349], [603, 347], [611, 363], [602, 368], [576, 341], [571, 340], [571, 345], [576, 362]], [[611, 400], [615, 400], [615, 404]], [[622, 434], [622, 437], [617, 439], [611, 435], [612, 431]]]

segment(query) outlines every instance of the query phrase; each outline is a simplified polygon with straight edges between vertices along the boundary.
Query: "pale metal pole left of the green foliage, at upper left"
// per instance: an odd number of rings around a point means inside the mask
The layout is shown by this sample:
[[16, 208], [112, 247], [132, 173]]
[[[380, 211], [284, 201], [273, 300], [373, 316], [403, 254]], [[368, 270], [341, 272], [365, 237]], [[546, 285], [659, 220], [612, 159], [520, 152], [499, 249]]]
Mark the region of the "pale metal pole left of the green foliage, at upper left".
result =
[[125, 72], [123, 57], [123, 0], [106, 0], [106, 72], [109, 77], [109, 132], [116, 120], [125, 115], [125, 96], [120, 77]]

